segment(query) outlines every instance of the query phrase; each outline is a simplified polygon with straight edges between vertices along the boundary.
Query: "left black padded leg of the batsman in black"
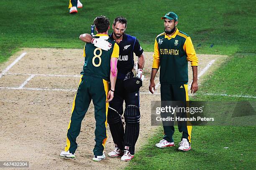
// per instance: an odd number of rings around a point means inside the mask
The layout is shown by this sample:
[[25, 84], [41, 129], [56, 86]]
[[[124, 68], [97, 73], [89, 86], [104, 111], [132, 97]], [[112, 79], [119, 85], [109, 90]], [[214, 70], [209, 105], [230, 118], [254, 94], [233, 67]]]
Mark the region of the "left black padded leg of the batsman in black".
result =
[[117, 79], [115, 83], [115, 94], [108, 108], [108, 125], [113, 138], [113, 142], [120, 150], [123, 150], [124, 128], [121, 115], [123, 115], [123, 80]]

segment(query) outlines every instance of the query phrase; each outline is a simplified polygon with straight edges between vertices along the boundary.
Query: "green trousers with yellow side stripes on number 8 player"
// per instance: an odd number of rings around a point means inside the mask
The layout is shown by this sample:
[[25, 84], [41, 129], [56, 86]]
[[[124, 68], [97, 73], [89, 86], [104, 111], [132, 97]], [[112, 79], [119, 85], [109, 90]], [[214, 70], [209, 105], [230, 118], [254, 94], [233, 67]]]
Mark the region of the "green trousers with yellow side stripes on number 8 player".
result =
[[107, 114], [108, 103], [106, 103], [108, 96], [109, 82], [98, 77], [90, 75], [82, 75], [77, 93], [74, 97], [72, 106], [71, 119], [69, 121], [67, 130], [67, 146], [65, 151], [75, 153], [77, 149], [76, 139], [80, 133], [81, 122], [84, 119], [85, 113], [88, 110], [92, 100], [95, 107], [95, 147], [93, 153], [95, 156], [100, 156], [105, 148], [107, 140]]

